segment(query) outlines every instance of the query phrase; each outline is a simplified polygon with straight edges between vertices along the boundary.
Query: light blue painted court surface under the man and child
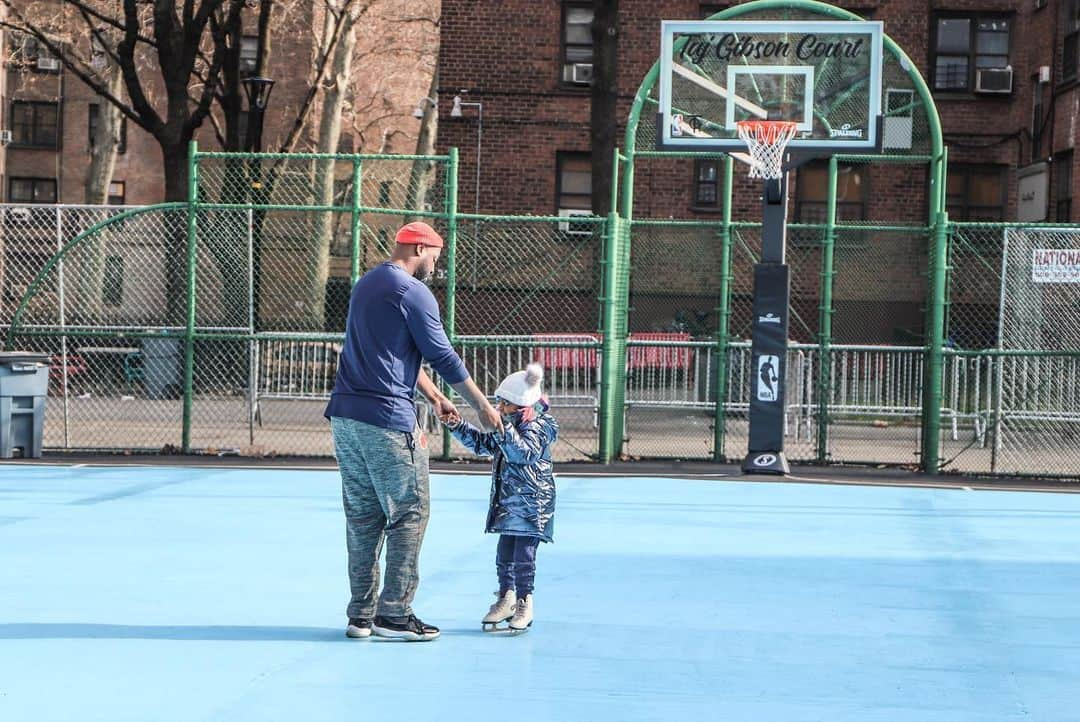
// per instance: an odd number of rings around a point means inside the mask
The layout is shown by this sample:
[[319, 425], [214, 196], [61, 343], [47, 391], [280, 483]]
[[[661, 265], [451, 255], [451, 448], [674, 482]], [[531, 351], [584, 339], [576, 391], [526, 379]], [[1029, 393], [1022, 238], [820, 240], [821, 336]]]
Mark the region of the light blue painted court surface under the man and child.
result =
[[496, 638], [487, 493], [410, 644], [343, 636], [334, 472], [0, 466], [0, 720], [1080, 720], [1080, 494], [563, 477]]

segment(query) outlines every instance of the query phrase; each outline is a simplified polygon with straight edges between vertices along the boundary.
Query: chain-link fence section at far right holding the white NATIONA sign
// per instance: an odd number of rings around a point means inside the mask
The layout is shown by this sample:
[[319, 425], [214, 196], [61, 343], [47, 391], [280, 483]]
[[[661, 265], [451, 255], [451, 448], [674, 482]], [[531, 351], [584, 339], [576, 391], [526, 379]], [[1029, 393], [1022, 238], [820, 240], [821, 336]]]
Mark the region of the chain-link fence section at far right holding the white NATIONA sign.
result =
[[946, 467], [1076, 476], [1080, 228], [957, 223], [949, 248]]

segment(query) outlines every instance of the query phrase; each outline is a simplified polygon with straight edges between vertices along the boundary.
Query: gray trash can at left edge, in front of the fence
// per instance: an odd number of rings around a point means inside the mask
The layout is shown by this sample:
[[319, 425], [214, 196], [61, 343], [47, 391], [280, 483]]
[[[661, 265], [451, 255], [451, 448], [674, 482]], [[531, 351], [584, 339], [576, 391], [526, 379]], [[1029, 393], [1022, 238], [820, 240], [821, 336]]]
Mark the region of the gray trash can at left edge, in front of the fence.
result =
[[0, 459], [38, 459], [49, 396], [49, 354], [0, 352]]

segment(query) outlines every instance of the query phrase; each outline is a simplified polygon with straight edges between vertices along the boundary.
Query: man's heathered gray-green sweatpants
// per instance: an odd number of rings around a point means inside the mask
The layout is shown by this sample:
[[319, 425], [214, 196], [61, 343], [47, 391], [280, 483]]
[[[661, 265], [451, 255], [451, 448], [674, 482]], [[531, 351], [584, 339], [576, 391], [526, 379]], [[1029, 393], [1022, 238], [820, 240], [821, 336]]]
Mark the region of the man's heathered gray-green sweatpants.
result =
[[[404, 617], [420, 582], [420, 545], [428, 527], [428, 449], [419, 434], [333, 417], [341, 471], [349, 549], [350, 617]], [[387, 577], [379, 589], [379, 555], [387, 543]]]

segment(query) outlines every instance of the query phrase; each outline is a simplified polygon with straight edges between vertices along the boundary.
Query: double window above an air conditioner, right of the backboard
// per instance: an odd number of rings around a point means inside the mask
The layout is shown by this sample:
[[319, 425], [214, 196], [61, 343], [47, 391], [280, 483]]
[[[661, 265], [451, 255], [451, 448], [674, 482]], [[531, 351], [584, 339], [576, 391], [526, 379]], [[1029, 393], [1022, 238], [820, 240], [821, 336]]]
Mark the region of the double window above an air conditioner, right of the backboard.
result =
[[1004, 17], [937, 17], [934, 24], [934, 90], [971, 91], [975, 71], [1009, 65]]

